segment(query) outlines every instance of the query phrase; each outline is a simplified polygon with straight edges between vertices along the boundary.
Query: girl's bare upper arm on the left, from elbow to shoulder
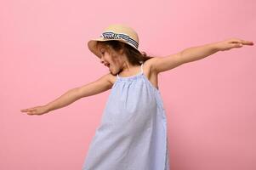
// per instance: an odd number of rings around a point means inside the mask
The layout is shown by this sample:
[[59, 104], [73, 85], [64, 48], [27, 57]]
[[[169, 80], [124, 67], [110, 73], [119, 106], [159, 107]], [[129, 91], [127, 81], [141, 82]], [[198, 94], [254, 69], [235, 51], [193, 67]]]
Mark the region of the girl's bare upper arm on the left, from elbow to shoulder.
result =
[[94, 82], [90, 82], [77, 89], [79, 98], [87, 97], [94, 94], [100, 94], [112, 87], [110, 80], [111, 73], [108, 73]]

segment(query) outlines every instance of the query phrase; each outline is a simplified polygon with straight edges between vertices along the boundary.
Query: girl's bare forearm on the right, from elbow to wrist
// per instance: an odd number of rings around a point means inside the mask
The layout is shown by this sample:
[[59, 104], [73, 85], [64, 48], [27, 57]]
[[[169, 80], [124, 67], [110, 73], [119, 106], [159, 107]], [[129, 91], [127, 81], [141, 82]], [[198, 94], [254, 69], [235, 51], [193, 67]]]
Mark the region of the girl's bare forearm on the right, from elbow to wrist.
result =
[[208, 43], [202, 46], [185, 48], [180, 52], [183, 63], [188, 63], [198, 59], [203, 59], [219, 51], [218, 42]]

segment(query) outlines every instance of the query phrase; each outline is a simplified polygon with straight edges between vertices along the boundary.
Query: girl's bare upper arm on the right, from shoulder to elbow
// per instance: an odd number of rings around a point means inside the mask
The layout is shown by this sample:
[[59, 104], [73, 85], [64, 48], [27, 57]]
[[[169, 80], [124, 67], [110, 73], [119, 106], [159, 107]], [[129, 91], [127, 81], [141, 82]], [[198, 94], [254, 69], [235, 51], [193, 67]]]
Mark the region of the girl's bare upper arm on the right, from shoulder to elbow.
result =
[[156, 73], [160, 73], [162, 71], [169, 71], [174, 67], [182, 64], [183, 62], [180, 58], [180, 53], [171, 54], [166, 57], [155, 57], [151, 59], [152, 70], [156, 71]]

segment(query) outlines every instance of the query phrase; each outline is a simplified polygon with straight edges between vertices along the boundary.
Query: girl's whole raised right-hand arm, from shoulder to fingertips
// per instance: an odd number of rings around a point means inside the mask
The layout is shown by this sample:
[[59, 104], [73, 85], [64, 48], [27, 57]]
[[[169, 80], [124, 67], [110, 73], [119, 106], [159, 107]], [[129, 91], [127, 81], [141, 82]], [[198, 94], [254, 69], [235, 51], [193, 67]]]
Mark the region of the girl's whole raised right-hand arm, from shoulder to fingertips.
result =
[[202, 46], [185, 48], [177, 54], [151, 59], [151, 68], [158, 74], [162, 71], [169, 71], [179, 65], [203, 59], [218, 51], [225, 51], [231, 48], [242, 48], [242, 45], [253, 45], [253, 42], [230, 38], [221, 42], [213, 42]]

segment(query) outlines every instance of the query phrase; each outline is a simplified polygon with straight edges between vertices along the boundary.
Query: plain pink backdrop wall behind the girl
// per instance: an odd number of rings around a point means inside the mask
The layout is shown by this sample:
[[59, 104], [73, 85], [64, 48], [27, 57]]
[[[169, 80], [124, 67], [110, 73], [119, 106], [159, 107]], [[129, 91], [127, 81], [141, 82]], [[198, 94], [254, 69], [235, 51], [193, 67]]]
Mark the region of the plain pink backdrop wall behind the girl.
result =
[[[43, 116], [21, 113], [108, 72], [87, 48], [112, 23], [154, 56], [230, 37], [256, 42], [254, 0], [0, 4], [0, 169], [81, 169], [110, 91]], [[233, 48], [159, 76], [172, 170], [256, 169], [256, 50]]]

